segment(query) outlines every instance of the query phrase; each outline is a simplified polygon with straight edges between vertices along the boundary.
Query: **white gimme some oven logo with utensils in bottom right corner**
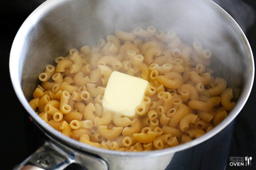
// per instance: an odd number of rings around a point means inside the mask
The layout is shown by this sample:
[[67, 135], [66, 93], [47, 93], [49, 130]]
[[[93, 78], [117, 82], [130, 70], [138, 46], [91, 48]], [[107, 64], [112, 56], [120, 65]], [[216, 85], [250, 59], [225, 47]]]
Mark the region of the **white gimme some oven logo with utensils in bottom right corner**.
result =
[[251, 156], [230, 156], [229, 166], [252, 166]]

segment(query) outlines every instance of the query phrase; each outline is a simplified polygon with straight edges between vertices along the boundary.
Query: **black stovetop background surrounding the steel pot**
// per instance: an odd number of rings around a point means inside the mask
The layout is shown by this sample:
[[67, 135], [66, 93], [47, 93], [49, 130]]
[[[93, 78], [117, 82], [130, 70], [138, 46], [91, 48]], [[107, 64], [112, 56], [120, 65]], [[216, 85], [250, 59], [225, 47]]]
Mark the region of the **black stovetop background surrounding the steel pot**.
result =
[[[214, 0], [223, 7], [244, 30], [256, 56], [256, 0]], [[12, 41], [28, 15], [44, 0], [9, 0], [0, 2], [0, 170], [11, 170], [44, 143], [44, 134], [36, 128], [12, 88], [9, 76], [9, 52]], [[255, 84], [255, 82], [254, 82]], [[255, 85], [254, 85], [255, 87]], [[251, 167], [231, 167], [226, 170], [256, 170], [256, 89], [236, 118], [230, 156], [252, 156]], [[220, 155], [221, 157], [221, 155]], [[79, 169], [72, 168], [69, 169]]]

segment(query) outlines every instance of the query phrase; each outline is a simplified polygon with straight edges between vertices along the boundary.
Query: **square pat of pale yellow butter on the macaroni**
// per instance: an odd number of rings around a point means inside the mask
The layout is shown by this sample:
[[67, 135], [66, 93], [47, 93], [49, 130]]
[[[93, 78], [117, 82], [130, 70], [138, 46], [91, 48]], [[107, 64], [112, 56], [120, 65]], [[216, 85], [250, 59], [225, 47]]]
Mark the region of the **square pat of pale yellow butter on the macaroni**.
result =
[[106, 110], [124, 116], [135, 116], [135, 110], [141, 104], [148, 81], [125, 73], [113, 71], [108, 79], [102, 106]]

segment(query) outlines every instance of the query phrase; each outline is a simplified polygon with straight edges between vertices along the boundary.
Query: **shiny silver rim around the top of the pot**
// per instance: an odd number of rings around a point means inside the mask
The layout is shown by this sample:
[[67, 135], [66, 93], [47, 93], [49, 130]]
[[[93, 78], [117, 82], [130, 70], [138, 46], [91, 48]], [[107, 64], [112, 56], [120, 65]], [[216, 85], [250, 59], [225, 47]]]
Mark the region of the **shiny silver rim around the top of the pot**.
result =
[[[30, 29], [33, 21], [37, 20], [41, 15], [43, 15], [45, 12], [51, 10], [55, 6], [58, 6], [62, 3], [67, 2], [68, 0], [47, 0], [43, 4], [41, 4], [38, 8], [36, 8], [35, 11], [33, 11], [28, 18], [24, 21], [24, 23], [21, 25], [19, 31], [17, 32], [13, 43], [12, 43], [12, 48], [10, 51], [10, 59], [9, 59], [9, 71], [10, 71], [10, 77], [12, 81], [12, 86], [14, 88], [14, 91], [16, 93], [16, 96], [20, 100], [21, 104], [24, 106], [25, 110], [32, 116], [32, 120], [36, 121], [36, 125], [40, 126], [39, 128], [43, 128], [47, 132], [49, 132], [51, 135], [53, 135], [55, 138], [57, 138], [58, 142], [64, 141], [65, 143], [68, 143], [68, 145], [72, 147], [76, 147], [79, 150], [82, 151], [87, 151], [87, 152], [92, 152], [92, 153], [103, 153], [103, 154], [111, 154], [111, 155], [119, 155], [119, 156], [152, 156], [152, 155], [165, 155], [165, 154], [170, 154], [170, 153], [175, 153], [177, 151], [182, 151], [187, 148], [196, 146], [197, 144], [200, 144], [220, 131], [222, 131], [228, 124], [232, 122], [236, 118], [236, 116], [240, 113], [242, 108], [244, 107], [245, 103], [248, 100], [248, 97], [251, 93], [252, 86], [253, 86], [253, 81], [254, 81], [254, 59], [253, 59], [253, 54], [252, 54], [252, 49], [251, 46], [248, 42], [248, 39], [240, 26], [236, 23], [236, 21], [232, 18], [231, 15], [229, 15], [223, 8], [221, 8], [218, 4], [215, 2], [211, 1], [205, 1], [209, 5], [212, 5], [214, 8], [217, 8], [219, 12], [221, 12], [223, 15], [227, 17], [229, 20], [229, 24], [232, 24], [232, 27], [236, 29], [237, 32], [240, 33], [240, 39], [244, 41], [245, 46], [247, 47], [246, 52], [248, 54], [248, 63], [250, 64], [250, 70], [251, 74], [248, 75], [248, 80], [244, 84], [244, 89], [242, 93], [240, 94], [239, 99], [236, 102], [235, 108], [228, 114], [228, 116], [220, 123], [218, 124], [215, 128], [213, 128], [211, 131], [208, 131], [206, 134], [200, 136], [197, 139], [193, 139], [190, 142], [180, 144], [175, 147], [170, 147], [162, 150], [156, 150], [156, 151], [146, 151], [146, 152], [128, 152], [128, 151], [112, 151], [112, 150], [106, 150], [102, 148], [97, 148], [97, 147], [92, 147], [89, 145], [86, 145], [84, 143], [81, 143], [79, 141], [76, 141], [75, 139], [69, 138], [63, 134], [61, 134], [59, 131], [56, 131], [54, 128], [52, 128], [49, 124], [44, 122], [37, 114], [34, 112], [34, 110], [30, 107], [28, 104], [27, 99], [25, 98], [23, 91], [21, 89], [21, 73], [22, 70], [20, 68], [20, 55], [22, 54], [22, 44], [24, 42], [24, 39], [27, 35], [27, 31]], [[46, 132], [44, 132], [46, 133]], [[48, 135], [46, 133], [46, 135]], [[52, 139], [50, 135], [48, 135]], [[55, 139], [53, 139], [55, 140]], [[60, 141], [59, 141], [60, 140]]]

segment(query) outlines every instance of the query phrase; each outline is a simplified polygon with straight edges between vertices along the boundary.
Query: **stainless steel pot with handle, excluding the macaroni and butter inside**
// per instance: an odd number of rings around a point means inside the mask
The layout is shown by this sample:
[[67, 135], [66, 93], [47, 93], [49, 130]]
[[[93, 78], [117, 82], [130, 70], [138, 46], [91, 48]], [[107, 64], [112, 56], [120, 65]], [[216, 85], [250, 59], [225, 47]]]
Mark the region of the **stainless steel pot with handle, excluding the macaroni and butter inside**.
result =
[[[109, 151], [62, 135], [29, 106], [39, 73], [54, 58], [66, 55], [71, 48], [96, 44], [115, 29], [129, 31], [150, 25], [163, 31], [174, 29], [187, 43], [200, 41], [212, 51], [216, 75], [226, 78], [228, 86], [240, 89], [235, 108], [212, 131], [160, 151]], [[50, 138], [16, 169], [64, 169], [74, 162], [97, 170], [224, 169], [234, 121], [254, 79], [254, 60], [246, 36], [211, 0], [47, 0], [20, 27], [9, 63], [17, 97]]]

